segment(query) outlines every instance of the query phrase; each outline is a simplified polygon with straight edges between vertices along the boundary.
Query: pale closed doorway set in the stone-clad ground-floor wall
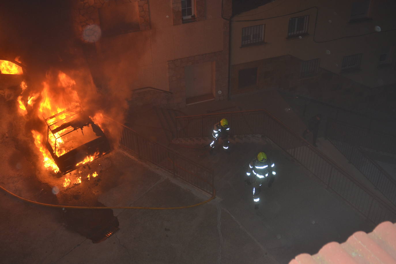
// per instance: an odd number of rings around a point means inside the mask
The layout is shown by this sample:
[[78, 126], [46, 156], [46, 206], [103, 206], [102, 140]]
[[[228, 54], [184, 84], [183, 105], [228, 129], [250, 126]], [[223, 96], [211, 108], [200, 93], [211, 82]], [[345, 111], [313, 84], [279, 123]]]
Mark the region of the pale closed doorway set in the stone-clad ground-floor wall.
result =
[[215, 62], [198, 63], [184, 68], [186, 104], [214, 100]]

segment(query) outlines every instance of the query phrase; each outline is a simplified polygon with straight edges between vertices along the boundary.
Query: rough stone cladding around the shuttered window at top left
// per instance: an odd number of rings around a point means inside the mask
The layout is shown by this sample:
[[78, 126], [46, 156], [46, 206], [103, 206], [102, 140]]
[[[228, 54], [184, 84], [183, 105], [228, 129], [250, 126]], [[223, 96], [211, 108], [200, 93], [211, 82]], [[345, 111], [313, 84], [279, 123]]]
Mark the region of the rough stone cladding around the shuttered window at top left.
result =
[[84, 40], [82, 33], [84, 28], [90, 25], [100, 26], [99, 8], [132, 2], [138, 2], [140, 30], [149, 30], [150, 14], [148, 0], [75, 0], [73, 19], [76, 35]]

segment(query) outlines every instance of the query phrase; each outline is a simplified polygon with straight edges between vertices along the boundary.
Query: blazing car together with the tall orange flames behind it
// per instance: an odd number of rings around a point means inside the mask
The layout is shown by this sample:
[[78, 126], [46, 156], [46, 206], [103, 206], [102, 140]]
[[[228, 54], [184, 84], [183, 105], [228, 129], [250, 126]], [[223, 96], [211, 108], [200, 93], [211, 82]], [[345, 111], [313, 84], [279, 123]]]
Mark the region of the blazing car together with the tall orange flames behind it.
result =
[[[17, 59], [0, 60], [0, 77], [2, 80], [3, 76], [23, 78], [22, 66]], [[24, 80], [14, 78], [14, 82], [20, 82], [22, 92], [19, 96], [13, 97], [17, 97], [22, 116], [29, 116], [30, 112], [45, 121], [46, 127], [38, 129], [42, 132], [31, 131], [34, 144], [43, 156], [44, 167], [52, 168], [55, 173], [67, 174], [110, 152], [110, 144], [100, 127], [101, 121], [99, 124], [93, 122], [97, 121], [95, 116], [89, 117], [81, 108], [80, 98], [75, 89], [76, 82], [60, 71], [47, 78], [48, 80], [42, 83], [41, 92], [30, 91]], [[20, 91], [15, 85], [12, 86], [12, 90]]]

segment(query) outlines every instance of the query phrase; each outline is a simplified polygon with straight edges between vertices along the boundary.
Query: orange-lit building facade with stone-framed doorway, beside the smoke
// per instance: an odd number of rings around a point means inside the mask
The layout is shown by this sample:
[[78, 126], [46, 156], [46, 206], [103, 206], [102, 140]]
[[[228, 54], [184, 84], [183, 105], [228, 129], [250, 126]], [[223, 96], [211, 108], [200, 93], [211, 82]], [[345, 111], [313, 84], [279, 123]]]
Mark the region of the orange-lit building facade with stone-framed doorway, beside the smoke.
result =
[[228, 93], [222, 11], [230, 0], [76, 0], [73, 17], [97, 86], [184, 107]]

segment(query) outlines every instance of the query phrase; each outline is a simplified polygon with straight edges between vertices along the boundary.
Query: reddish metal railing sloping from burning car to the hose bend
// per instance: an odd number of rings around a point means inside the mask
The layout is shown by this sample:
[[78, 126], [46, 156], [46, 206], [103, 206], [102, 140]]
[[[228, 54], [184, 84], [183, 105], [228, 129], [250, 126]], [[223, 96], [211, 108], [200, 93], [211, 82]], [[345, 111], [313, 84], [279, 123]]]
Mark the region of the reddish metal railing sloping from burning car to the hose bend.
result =
[[183, 157], [170, 148], [139, 135], [129, 127], [108, 118], [121, 131], [120, 145], [137, 155], [138, 158], [166, 169], [200, 190], [213, 195], [214, 173], [212, 169]]

